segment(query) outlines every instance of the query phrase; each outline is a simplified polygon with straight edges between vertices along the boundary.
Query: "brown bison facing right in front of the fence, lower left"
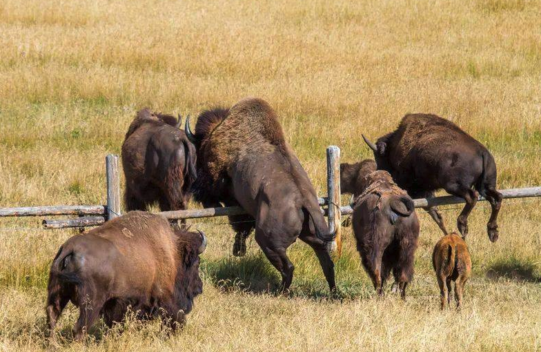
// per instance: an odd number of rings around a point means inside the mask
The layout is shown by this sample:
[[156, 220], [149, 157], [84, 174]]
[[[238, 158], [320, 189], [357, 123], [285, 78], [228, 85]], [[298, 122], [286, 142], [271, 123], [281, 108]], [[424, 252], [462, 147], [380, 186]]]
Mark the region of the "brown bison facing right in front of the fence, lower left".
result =
[[76, 339], [102, 315], [121, 322], [128, 306], [141, 319], [160, 316], [173, 329], [184, 323], [202, 292], [203, 233], [174, 231], [165, 217], [132, 211], [59, 249], [50, 268], [47, 320], [52, 335], [69, 301], [79, 307]]

